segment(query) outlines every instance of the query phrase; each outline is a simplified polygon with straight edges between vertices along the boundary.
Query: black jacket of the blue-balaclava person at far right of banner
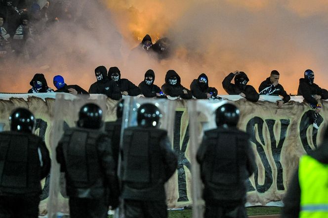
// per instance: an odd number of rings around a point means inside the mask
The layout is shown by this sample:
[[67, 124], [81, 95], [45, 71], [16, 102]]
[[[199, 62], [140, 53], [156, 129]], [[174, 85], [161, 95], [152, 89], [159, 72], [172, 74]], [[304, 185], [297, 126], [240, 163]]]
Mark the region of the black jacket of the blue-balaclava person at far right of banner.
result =
[[319, 87], [317, 84], [310, 85], [304, 78], [299, 79], [297, 95], [302, 95], [303, 98], [310, 104], [317, 105], [318, 101], [312, 95], [321, 95], [321, 99], [328, 99], [328, 91]]

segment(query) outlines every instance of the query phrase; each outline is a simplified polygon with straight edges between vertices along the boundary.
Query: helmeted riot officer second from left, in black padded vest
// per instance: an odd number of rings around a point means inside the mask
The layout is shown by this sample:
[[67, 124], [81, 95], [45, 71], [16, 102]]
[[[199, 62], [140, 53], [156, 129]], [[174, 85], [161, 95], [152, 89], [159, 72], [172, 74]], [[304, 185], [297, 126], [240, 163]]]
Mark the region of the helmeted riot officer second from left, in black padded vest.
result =
[[78, 127], [65, 131], [56, 148], [65, 172], [71, 218], [107, 218], [108, 207], [119, 204], [118, 178], [109, 136], [100, 131], [102, 110], [82, 106]]

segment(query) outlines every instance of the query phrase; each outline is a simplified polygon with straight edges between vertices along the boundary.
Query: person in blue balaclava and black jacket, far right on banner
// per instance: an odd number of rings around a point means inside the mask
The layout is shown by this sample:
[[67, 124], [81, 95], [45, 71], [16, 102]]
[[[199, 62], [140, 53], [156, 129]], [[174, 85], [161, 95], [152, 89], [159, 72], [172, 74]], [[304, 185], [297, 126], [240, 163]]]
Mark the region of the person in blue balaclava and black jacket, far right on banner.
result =
[[299, 79], [297, 95], [302, 95], [313, 108], [316, 107], [319, 99], [328, 99], [328, 91], [314, 83], [314, 72], [310, 69], [304, 72], [304, 78]]

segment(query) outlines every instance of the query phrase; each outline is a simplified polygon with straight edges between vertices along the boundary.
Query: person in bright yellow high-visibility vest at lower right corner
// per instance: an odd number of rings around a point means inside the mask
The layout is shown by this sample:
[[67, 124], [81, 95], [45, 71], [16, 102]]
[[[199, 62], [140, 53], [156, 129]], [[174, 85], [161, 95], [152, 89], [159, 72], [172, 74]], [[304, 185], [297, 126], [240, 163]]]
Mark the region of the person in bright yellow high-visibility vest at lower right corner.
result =
[[300, 158], [284, 204], [283, 218], [328, 218], [328, 129], [321, 146]]

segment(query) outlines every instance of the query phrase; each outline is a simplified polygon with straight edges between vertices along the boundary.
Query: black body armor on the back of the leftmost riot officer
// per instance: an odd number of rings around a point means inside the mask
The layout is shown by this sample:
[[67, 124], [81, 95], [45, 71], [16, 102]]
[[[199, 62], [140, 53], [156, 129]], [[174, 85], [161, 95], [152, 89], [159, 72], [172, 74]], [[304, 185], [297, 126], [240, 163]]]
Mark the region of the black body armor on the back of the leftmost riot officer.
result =
[[0, 133], [1, 193], [26, 194], [41, 191], [39, 136], [22, 132]]

